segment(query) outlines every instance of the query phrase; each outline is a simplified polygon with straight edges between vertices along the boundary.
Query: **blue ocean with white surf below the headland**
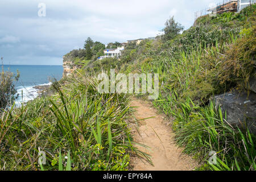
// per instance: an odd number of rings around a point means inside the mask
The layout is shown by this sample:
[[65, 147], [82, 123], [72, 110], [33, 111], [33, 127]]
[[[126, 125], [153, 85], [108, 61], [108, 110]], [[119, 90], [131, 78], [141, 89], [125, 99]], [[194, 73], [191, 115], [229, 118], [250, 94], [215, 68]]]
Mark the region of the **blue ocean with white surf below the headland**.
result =
[[33, 88], [34, 86], [50, 85], [53, 78], [60, 80], [63, 75], [62, 65], [3, 65], [3, 69], [10, 70], [15, 75], [17, 69], [19, 71], [19, 80], [14, 82], [18, 94], [16, 106], [38, 97], [39, 94]]

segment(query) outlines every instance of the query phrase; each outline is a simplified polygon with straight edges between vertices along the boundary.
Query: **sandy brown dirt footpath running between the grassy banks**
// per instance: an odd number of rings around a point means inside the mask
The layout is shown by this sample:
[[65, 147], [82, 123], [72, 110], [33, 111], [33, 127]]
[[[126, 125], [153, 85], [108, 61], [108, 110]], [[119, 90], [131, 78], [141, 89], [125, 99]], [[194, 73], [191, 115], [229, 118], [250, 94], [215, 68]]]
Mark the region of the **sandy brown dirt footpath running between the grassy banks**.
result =
[[[137, 145], [139, 150], [151, 155], [154, 166], [140, 158], [132, 158], [131, 166], [134, 171], [176, 171], [192, 170], [196, 163], [191, 157], [181, 154], [174, 141], [171, 127], [164, 121], [164, 116], [152, 108], [146, 101], [133, 99], [131, 106], [135, 107], [135, 118], [139, 121], [139, 127], [134, 131], [134, 141], [150, 148]], [[154, 118], [149, 118], [154, 117]]]

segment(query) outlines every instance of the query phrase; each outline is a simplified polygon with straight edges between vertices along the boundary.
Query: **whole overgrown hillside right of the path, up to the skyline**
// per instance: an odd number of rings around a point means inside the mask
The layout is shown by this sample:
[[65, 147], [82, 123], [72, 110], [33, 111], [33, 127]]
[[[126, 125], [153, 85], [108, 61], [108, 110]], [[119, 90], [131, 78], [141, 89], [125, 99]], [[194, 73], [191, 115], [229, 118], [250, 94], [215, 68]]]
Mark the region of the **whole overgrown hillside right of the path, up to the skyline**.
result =
[[[225, 113], [210, 101], [214, 94], [248, 88], [255, 77], [255, 9], [203, 16], [168, 42], [129, 44], [121, 60], [97, 61], [94, 71], [159, 73], [160, 96], [152, 104], [175, 117], [177, 143], [202, 163], [200, 169], [256, 169], [255, 136], [229, 126]], [[216, 165], [208, 163], [210, 151], [217, 152]]]

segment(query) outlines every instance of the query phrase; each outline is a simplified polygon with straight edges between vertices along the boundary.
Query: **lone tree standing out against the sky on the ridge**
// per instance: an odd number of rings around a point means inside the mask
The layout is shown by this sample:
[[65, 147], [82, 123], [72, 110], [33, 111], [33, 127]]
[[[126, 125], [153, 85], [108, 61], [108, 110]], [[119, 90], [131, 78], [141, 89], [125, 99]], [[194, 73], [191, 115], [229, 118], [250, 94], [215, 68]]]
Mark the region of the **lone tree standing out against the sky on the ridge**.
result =
[[184, 27], [181, 26], [180, 23], [175, 22], [174, 16], [166, 20], [165, 26], [166, 27], [162, 30], [164, 31], [164, 40], [174, 39], [181, 31], [184, 30]]

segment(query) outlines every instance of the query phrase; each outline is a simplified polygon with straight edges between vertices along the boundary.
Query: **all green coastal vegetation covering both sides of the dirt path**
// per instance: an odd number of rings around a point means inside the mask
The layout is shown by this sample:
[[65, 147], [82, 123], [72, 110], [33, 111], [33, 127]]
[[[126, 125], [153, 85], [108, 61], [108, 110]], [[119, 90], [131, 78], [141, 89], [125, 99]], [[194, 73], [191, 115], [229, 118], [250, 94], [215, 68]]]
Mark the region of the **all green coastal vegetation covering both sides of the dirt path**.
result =
[[[95, 60], [103, 46], [87, 39], [85, 49], [65, 55], [81, 69], [53, 84], [55, 94], [2, 110], [0, 169], [126, 170], [131, 155], [149, 160], [131, 137], [130, 96], [97, 92], [94, 76], [115, 68], [159, 73], [159, 98], [152, 105], [170, 119], [177, 144], [200, 163], [198, 170], [255, 170], [255, 135], [230, 125], [213, 99], [249, 92], [256, 67], [255, 10], [252, 5], [237, 14], [206, 15], [182, 34], [171, 18], [163, 36], [131, 42], [119, 58]], [[43, 167], [39, 151], [46, 152]], [[216, 164], [208, 162], [210, 151]]]

